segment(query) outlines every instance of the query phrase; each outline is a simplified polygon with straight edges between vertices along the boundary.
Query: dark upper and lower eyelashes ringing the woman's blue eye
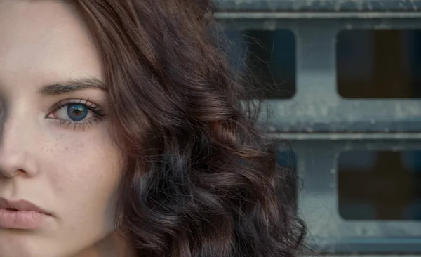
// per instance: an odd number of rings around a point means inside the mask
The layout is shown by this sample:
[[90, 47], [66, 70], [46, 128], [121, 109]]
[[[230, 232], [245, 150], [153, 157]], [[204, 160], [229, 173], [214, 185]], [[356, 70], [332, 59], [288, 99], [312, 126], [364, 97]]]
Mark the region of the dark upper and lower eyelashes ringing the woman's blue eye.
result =
[[[62, 107], [66, 107], [66, 106], [69, 106], [69, 105], [83, 105], [88, 110], [93, 112], [94, 117], [92, 117], [91, 119], [83, 120], [83, 121], [69, 121], [69, 120], [65, 120], [65, 119], [48, 118], [48, 116], [50, 116], [54, 112], [57, 112]], [[76, 129], [81, 129], [82, 131], [85, 131], [86, 127], [91, 127], [91, 126], [94, 125], [94, 123], [98, 124], [99, 121], [102, 121], [102, 119], [105, 117], [105, 115], [106, 115], [105, 110], [102, 109], [102, 107], [100, 107], [100, 105], [92, 103], [88, 99], [86, 99], [86, 100], [84, 100], [84, 99], [67, 99], [67, 100], [62, 100], [59, 103], [56, 103], [52, 107], [51, 111], [48, 112], [46, 117], [48, 119], [55, 119], [57, 121], [60, 121], [60, 125], [65, 126], [66, 129], [69, 126], [73, 125], [74, 131]]]

